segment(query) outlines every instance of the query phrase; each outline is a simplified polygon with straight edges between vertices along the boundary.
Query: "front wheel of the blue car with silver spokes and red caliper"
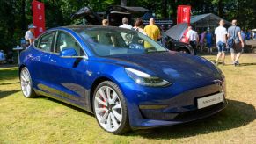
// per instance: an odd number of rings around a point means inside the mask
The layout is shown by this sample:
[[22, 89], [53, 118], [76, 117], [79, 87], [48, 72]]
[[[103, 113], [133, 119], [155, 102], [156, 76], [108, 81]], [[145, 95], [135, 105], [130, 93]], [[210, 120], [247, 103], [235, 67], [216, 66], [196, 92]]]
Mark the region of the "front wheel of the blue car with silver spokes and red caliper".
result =
[[92, 103], [95, 118], [106, 132], [122, 134], [130, 130], [125, 98], [115, 83], [99, 83], [94, 90]]

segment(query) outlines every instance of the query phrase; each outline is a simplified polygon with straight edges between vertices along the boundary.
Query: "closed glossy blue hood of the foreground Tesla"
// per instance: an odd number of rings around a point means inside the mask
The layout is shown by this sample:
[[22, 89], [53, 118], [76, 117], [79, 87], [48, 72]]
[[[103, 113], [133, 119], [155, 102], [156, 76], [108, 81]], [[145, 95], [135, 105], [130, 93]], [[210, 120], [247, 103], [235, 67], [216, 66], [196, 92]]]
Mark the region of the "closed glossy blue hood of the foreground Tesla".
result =
[[113, 55], [110, 62], [126, 68], [135, 68], [165, 80], [191, 81], [216, 77], [215, 66], [209, 61], [191, 54], [162, 52], [154, 54]]

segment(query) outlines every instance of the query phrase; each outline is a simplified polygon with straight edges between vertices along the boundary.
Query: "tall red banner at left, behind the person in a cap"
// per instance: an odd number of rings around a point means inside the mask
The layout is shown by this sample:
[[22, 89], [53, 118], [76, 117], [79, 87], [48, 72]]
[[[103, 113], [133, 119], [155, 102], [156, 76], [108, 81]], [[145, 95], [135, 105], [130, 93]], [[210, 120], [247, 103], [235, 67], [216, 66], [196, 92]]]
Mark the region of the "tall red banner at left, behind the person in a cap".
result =
[[45, 5], [36, 0], [32, 2], [33, 8], [33, 25], [36, 26], [34, 29], [34, 36], [37, 37], [40, 33], [45, 31]]

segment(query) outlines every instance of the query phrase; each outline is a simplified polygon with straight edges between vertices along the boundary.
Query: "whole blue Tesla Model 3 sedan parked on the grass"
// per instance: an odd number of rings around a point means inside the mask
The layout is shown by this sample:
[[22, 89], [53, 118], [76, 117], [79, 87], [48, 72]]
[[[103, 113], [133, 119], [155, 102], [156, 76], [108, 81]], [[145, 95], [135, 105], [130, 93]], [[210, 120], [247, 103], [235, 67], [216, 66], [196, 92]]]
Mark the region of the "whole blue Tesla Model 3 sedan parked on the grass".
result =
[[118, 27], [50, 29], [20, 61], [25, 97], [52, 97], [94, 113], [109, 133], [185, 123], [227, 104], [223, 73], [210, 61]]

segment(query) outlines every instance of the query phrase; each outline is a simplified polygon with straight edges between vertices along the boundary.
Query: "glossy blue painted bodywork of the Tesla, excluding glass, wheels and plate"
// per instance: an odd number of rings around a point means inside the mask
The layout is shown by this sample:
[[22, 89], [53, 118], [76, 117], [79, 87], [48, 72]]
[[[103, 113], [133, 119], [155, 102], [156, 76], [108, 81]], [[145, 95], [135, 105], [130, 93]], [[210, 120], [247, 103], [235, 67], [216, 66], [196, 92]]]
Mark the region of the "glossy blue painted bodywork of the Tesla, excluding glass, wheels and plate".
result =
[[[196, 111], [194, 98], [217, 91], [223, 91], [225, 94], [224, 78], [213, 64], [198, 56], [161, 52], [99, 57], [93, 54], [77, 33], [69, 28], [60, 27], [49, 31], [69, 32], [84, 48], [88, 60], [62, 58], [58, 54], [44, 53], [33, 46], [28, 47], [21, 53], [20, 68], [26, 66], [29, 69], [33, 88], [37, 92], [92, 112], [92, 84], [99, 78], [107, 78], [116, 83], [125, 96], [130, 126], [134, 129], [170, 126], [201, 119], [221, 111], [225, 106], [226, 102], [214, 112], [187, 121], [145, 119], [140, 110], [141, 105], [166, 105], [165, 108], [153, 110], [158, 113]], [[74, 65], [76, 61], [77, 64]], [[127, 75], [125, 68], [135, 68], [158, 76], [172, 85], [163, 88], [138, 85]], [[219, 86], [217, 83], [223, 85]], [[204, 90], [204, 87], [207, 88]], [[188, 97], [189, 91], [193, 90], [197, 95]]]

